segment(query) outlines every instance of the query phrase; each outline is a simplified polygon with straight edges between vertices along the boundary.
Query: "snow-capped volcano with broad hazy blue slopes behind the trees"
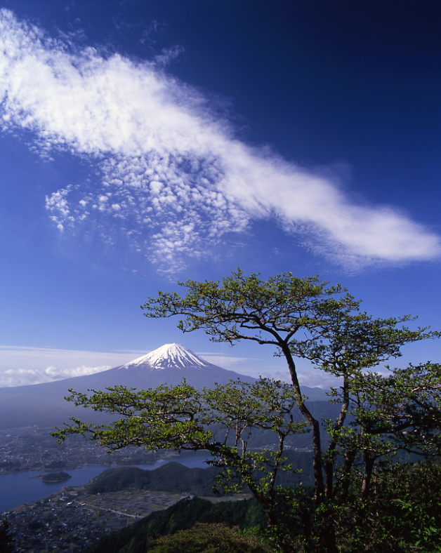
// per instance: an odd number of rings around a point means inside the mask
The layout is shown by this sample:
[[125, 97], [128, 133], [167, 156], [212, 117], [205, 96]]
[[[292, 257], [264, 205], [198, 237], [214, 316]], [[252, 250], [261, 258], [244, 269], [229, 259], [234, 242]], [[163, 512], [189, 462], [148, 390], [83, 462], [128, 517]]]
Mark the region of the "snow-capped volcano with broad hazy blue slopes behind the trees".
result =
[[[183, 378], [199, 389], [223, 385], [229, 380], [255, 382], [256, 378], [228, 371], [204, 361], [179, 344], [166, 344], [124, 365], [86, 376], [77, 376], [27, 386], [0, 388], [0, 429], [25, 426], [60, 426], [72, 415], [86, 422], [108, 421], [103, 413], [76, 408], [64, 397], [68, 389], [86, 392], [113, 386], [136, 389], [155, 388], [162, 384], [178, 385]], [[320, 388], [304, 387], [311, 401], [327, 400]]]

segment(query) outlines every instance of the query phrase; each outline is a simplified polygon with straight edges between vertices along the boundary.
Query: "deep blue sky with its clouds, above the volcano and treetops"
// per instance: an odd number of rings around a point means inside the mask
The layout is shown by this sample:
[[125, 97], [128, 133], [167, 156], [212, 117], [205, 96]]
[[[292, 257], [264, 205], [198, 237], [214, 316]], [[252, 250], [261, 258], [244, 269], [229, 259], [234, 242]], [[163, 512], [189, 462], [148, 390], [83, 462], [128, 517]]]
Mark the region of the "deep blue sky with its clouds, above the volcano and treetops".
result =
[[[0, 1], [0, 385], [180, 342], [177, 280], [320, 274], [441, 326], [435, 3]], [[439, 359], [437, 342], [404, 361]], [[308, 385], [327, 385], [301, 364]]]

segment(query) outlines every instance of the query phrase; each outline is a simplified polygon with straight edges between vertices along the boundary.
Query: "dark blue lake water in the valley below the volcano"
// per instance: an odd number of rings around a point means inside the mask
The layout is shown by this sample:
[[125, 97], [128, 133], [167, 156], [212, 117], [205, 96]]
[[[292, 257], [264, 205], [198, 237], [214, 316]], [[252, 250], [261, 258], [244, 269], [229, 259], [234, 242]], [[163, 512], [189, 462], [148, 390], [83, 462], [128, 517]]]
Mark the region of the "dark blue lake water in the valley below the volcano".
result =
[[[172, 458], [161, 459], [154, 465], [137, 465], [141, 469], [153, 470], [165, 465], [167, 462], [176, 461], [180, 462], [185, 467], [202, 467], [206, 468], [208, 465], [204, 463], [204, 460], [209, 459], [210, 455], [204, 453], [204, 451], [197, 451], [195, 453], [181, 453], [178, 456]], [[45, 471], [28, 471], [17, 472], [15, 474], [1, 474], [0, 475], [0, 512], [8, 511], [13, 507], [18, 507], [23, 503], [29, 503], [30, 501], [37, 501], [45, 498], [46, 495], [60, 491], [66, 486], [81, 486], [87, 484], [87, 482], [98, 476], [103, 470], [107, 470], [111, 467], [107, 466], [86, 466], [78, 469], [66, 470], [72, 478], [64, 482], [44, 482], [39, 478], [34, 478], [40, 474], [47, 474]], [[57, 472], [57, 471], [53, 471]]]

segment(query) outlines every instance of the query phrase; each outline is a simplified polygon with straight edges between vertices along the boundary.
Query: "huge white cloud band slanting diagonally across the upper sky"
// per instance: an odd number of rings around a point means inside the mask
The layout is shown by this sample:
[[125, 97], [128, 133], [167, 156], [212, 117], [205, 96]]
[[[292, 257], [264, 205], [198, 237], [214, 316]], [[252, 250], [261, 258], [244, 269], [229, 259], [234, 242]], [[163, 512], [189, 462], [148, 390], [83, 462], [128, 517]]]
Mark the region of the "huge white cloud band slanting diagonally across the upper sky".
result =
[[124, 234], [164, 271], [206, 255], [226, 232], [272, 217], [343, 262], [440, 255], [440, 237], [407, 215], [355, 205], [331, 180], [235, 139], [159, 62], [106, 58], [93, 48], [72, 53], [7, 10], [0, 100], [5, 129], [32, 131], [40, 152], [67, 149], [100, 168], [100, 186], [48, 197], [58, 228], [93, 224], [109, 242]]

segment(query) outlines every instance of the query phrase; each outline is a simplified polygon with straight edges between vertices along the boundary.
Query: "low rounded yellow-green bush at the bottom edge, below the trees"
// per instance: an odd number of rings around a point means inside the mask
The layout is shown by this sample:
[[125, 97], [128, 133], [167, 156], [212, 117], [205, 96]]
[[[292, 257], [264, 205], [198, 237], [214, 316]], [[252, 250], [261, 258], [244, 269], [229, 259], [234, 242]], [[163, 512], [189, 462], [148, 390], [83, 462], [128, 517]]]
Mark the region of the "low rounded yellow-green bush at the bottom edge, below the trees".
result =
[[254, 535], [242, 535], [225, 524], [197, 522], [189, 530], [163, 536], [152, 542], [151, 553], [265, 553], [268, 546]]

